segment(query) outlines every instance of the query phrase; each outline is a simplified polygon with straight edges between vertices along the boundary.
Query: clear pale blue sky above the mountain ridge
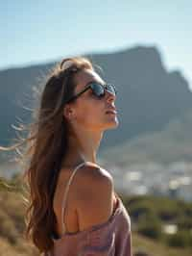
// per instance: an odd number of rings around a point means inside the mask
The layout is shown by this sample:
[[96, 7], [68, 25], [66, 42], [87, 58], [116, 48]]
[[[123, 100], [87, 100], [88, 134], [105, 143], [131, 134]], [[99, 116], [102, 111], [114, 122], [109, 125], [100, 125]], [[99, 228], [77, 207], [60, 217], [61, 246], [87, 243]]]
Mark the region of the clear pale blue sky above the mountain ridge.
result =
[[0, 69], [156, 46], [192, 88], [192, 1], [0, 0]]

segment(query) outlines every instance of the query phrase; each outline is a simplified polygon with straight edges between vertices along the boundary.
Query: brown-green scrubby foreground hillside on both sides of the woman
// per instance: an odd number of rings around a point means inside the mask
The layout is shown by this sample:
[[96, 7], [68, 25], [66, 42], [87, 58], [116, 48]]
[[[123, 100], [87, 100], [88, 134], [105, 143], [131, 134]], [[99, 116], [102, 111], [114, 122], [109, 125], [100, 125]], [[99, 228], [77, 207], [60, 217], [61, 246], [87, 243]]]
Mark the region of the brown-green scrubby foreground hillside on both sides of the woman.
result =
[[[22, 190], [18, 176], [12, 179], [12, 181], [9, 181], [9, 185], [14, 186], [14, 189], [8, 189], [8, 187], [2, 185], [2, 182], [0, 183], [0, 255], [37, 256], [39, 254], [37, 253], [36, 248], [32, 243], [25, 241], [23, 237], [25, 229], [23, 218], [25, 213], [25, 204], [21, 197]], [[170, 200], [168, 198], [155, 198], [153, 196], [124, 197], [120, 192], [119, 196], [122, 198], [129, 214], [131, 215], [133, 252], [142, 251], [147, 253], [149, 256], [191, 255], [192, 247], [187, 245], [185, 237], [180, 237], [180, 241], [182, 243], [178, 243], [177, 237], [175, 240], [170, 240], [170, 238], [166, 236], [162, 237], [161, 231], [158, 229], [162, 220], [169, 222], [173, 219], [180, 223], [180, 230], [186, 228], [186, 224], [190, 225], [188, 228], [192, 228], [190, 220], [192, 215], [191, 204], [187, 204], [182, 201]], [[183, 221], [186, 217], [188, 217], [188, 220]], [[144, 232], [143, 223], [147, 224], [147, 227], [150, 228], [149, 230], [155, 230], [157, 233], [151, 233], [151, 238], [149, 238], [149, 234], [148, 236], [141, 235], [141, 233]], [[135, 224], [137, 226], [135, 226]], [[154, 238], [152, 238], [153, 234], [155, 234]], [[175, 247], [167, 244], [173, 243], [173, 241], [175, 241]]]

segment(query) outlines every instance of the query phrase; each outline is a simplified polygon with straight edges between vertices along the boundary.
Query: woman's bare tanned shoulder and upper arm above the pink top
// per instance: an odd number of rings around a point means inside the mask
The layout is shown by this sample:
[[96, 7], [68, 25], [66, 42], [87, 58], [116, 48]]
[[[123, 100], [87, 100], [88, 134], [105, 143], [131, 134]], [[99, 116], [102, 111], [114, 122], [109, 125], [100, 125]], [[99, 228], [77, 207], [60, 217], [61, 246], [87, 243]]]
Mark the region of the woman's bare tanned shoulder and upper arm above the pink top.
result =
[[112, 177], [100, 166], [82, 167], [76, 193], [80, 231], [108, 220], [113, 210]]

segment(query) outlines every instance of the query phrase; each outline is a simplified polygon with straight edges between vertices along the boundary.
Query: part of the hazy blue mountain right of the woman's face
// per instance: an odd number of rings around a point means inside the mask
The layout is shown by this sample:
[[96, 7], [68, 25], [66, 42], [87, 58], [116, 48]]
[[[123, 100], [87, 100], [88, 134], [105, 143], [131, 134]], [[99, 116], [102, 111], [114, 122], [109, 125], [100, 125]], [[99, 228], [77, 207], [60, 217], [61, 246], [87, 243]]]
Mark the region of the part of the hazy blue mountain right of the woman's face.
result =
[[168, 72], [155, 47], [94, 55], [105, 67], [107, 81], [119, 91], [116, 105], [120, 125], [108, 131], [104, 144], [116, 145], [149, 132], [160, 131], [172, 118], [192, 107], [192, 93], [180, 71]]

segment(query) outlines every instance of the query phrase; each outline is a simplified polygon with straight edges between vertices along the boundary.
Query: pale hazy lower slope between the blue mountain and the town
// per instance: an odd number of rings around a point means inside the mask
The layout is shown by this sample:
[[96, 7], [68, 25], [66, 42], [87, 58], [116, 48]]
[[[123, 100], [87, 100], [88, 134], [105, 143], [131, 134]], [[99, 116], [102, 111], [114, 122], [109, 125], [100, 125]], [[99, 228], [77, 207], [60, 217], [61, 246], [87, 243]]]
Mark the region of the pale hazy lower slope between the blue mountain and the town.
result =
[[102, 151], [108, 163], [132, 165], [155, 162], [169, 165], [190, 162], [192, 154], [192, 110], [171, 120], [159, 132], [146, 133]]

